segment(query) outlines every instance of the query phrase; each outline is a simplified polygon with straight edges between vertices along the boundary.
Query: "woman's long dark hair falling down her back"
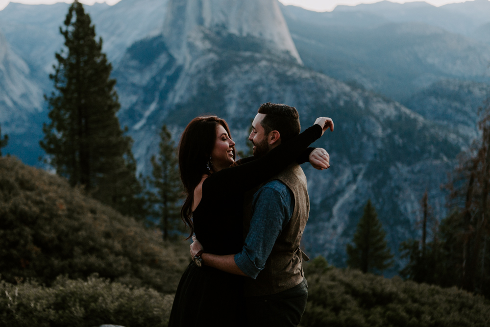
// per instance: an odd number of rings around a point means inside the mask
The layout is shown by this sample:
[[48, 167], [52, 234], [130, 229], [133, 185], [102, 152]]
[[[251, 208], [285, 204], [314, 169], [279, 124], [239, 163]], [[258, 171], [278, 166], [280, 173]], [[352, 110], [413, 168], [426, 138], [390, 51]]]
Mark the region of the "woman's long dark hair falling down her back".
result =
[[[192, 222], [192, 202], [194, 189], [201, 181], [203, 174], [209, 174], [206, 164], [216, 143], [216, 127], [223, 126], [231, 138], [228, 124], [216, 116], [204, 116], [194, 118], [184, 129], [179, 142], [179, 173], [184, 184], [186, 199], [180, 210], [184, 224], [194, 233]], [[233, 148], [235, 159], [235, 148]]]

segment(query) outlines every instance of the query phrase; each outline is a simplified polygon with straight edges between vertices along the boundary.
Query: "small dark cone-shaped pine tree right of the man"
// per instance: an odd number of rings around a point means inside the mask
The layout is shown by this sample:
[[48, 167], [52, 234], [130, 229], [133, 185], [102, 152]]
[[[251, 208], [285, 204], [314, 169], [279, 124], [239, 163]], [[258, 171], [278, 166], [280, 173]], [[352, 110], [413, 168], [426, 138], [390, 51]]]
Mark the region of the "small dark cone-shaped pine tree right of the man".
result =
[[352, 239], [354, 246], [347, 244], [348, 266], [363, 273], [382, 273], [393, 264], [393, 255], [385, 240], [386, 232], [377, 216], [371, 200], [368, 200]]

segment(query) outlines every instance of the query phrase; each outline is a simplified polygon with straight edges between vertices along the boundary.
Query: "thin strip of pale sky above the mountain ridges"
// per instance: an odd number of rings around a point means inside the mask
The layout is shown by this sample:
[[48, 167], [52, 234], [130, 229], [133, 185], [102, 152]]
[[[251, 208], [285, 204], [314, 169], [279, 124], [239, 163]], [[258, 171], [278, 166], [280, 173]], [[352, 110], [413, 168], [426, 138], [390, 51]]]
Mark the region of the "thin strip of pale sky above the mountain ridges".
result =
[[[104, 0], [80, 0], [80, 2], [84, 4], [94, 4], [94, 2], [107, 2], [107, 4], [110, 5], [116, 4], [119, 1], [121, 0], [105, 0], [105, 1]], [[279, 0], [279, 1], [281, 1], [286, 5], [293, 4], [295, 6], [303, 7], [309, 10], [332, 11], [338, 4], [354, 6], [359, 3], [374, 3], [374, 2], [379, 2], [380, 0]], [[404, 3], [404, 2], [413, 2], [417, 0], [390, 0], [390, 1]], [[9, 0], [0, 0], [0, 10], [5, 8], [9, 2], [10, 2]], [[55, 2], [63, 2], [63, 0], [15, 0], [12, 2], [20, 2], [26, 4], [39, 4], [39, 3], [52, 4]], [[64, 2], [73, 2], [73, 1], [65, 0]], [[425, 2], [428, 2], [432, 5], [439, 7], [447, 3], [465, 2], [465, 0], [425, 0]]]

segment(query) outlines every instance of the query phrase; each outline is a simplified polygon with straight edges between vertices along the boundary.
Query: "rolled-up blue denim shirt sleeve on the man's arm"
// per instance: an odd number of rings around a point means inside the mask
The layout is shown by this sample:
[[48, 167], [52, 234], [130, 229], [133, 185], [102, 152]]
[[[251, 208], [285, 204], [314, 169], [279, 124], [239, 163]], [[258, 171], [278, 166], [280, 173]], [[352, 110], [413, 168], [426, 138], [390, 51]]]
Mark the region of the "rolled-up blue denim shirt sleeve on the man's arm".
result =
[[242, 252], [235, 263], [253, 279], [264, 269], [277, 237], [288, 224], [294, 210], [294, 196], [281, 181], [272, 180], [253, 196], [252, 219]]

